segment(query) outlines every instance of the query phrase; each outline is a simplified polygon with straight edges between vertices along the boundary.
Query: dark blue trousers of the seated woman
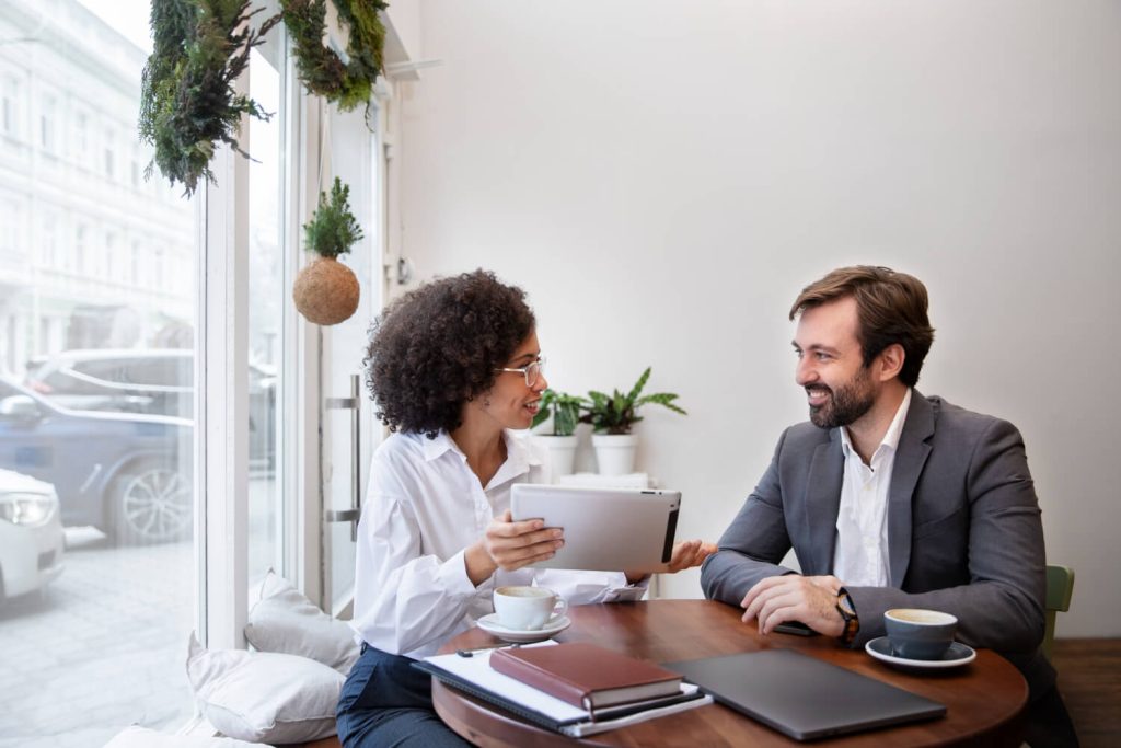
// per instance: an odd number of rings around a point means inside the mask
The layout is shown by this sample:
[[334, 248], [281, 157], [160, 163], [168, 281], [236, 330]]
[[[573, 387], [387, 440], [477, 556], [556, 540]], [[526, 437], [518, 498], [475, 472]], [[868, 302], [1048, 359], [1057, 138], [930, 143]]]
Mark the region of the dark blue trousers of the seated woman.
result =
[[368, 644], [339, 696], [335, 721], [344, 748], [464, 748], [432, 705], [432, 678], [413, 659]]

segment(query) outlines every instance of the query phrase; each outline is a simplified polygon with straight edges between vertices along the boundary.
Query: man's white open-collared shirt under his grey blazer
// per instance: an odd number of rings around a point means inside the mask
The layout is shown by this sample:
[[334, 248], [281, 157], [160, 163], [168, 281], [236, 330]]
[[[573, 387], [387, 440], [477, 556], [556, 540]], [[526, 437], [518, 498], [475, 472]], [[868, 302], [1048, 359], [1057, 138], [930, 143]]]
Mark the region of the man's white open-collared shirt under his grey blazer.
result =
[[844, 452], [844, 480], [841, 483], [841, 507], [837, 511], [837, 544], [833, 552], [833, 575], [852, 587], [887, 587], [888, 490], [896, 450], [907, 421], [911, 390], [896, 410], [883, 440], [864, 464], [853, 449], [849, 430], [841, 427]]

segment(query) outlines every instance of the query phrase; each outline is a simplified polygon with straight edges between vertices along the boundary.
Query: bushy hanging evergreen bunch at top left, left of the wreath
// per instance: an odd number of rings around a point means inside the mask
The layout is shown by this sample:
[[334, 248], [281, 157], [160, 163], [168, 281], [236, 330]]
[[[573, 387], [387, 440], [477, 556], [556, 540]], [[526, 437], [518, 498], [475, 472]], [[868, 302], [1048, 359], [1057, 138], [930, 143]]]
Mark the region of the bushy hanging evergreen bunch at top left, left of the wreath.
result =
[[[249, 0], [152, 0], [152, 53], [145, 65], [140, 93], [140, 137], [156, 154], [155, 167], [182, 182], [191, 195], [200, 177], [214, 181], [210, 160], [216, 142], [238, 146], [242, 114], [268, 120], [260, 105], [234, 92], [233, 83], [249, 64], [249, 52], [280, 21], [267, 18], [251, 29]], [[241, 29], [241, 30], [239, 30]]]

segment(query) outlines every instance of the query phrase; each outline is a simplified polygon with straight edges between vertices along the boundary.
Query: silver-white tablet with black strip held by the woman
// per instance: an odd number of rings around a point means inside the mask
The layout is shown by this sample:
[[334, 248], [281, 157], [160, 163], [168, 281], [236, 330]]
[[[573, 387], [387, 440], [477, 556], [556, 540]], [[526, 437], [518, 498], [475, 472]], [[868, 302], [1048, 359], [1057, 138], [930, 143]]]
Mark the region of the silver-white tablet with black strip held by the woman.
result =
[[564, 528], [564, 546], [536, 569], [664, 572], [677, 532], [679, 491], [516, 483], [515, 521]]

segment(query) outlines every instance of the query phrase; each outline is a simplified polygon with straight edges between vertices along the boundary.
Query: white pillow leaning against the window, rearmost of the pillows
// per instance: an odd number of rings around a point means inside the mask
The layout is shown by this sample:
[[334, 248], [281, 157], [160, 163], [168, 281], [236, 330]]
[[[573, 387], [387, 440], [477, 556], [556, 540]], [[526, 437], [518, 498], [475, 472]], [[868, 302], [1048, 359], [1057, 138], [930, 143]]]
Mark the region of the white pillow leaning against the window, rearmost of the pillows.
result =
[[250, 608], [245, 625], [245, 639], [253, 647], [311, 657], [340, 673], [350, 672], [359, 648], [346, 622], [319, 610], [272, 570], [259, 589], [260, 600]]

